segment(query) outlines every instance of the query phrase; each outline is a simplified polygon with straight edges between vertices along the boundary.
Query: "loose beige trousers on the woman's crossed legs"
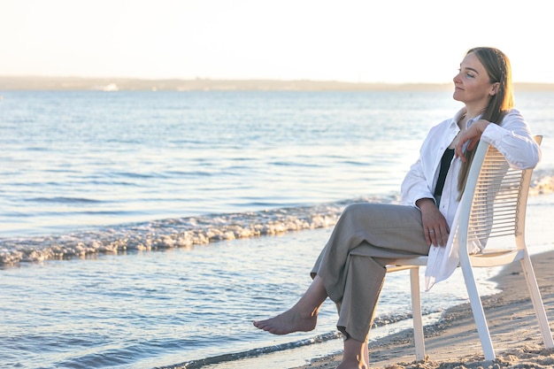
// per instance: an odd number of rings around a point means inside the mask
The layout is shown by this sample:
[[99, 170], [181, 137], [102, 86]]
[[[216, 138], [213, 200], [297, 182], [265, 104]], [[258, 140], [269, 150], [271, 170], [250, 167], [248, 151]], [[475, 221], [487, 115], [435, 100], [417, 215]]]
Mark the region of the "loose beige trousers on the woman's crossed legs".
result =
[[373, 322], [387, 260], [427, 255], [421, 213], [412, 206], [352, 204], [312, 269], [337, 304], [337, 328], [364, 342]]

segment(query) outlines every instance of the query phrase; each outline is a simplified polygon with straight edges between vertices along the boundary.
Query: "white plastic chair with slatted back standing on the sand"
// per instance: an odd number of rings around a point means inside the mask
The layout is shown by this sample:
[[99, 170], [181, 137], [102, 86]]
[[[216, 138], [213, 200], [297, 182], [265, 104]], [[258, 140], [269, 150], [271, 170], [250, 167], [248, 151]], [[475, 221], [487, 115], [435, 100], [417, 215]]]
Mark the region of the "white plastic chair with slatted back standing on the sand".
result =
[[[542, 136], [535, 136], [535, 141], [540, 144]], [[458, 224], [453, 225], [450, 230], [450, 232], [458, 232], [459, 266], [464, 275], [473, 318], [487, 360], [494, 360], [496, 355], [473, 276], [473, 267], [508, 265], [519, 260], [525, 274], [531, 301], [535, 307], [542, 341], [547, 348], [554, 347], [549, 322], [525, 242], [527, 193], [532, 173], [531, 169], [510, 168], [498, 150], [486, 142], [480, 142], [470, 168], [464, 196], [459, 204], [461, 208]], [[480, 254], [469, 254], [468, 239], [477, 238], [486, 242], [492, 237], [507, 237], [512, 242], [506, 249], [489, 250], [485, 248]], [[417, 360], [425, 359], [419, 295], [419, 266], [423, 265], [427, 265], [427, 257], [398, 258], [391, 261], [388, 266], [388, 272], [410, 269], [413, 331]]]

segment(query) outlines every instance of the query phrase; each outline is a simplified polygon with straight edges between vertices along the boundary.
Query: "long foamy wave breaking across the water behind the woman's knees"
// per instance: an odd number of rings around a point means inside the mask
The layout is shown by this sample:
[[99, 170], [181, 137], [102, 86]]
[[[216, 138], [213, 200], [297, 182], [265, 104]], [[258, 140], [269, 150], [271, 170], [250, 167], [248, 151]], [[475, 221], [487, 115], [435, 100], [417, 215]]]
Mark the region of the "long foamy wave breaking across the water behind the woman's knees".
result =
[[[554, 176], [534, 175], [530, 196], [554, 192]], [[36, 200], [36, 199], [35, 199]], [[42, 199], [58, 202], [89, 202], [86, 198]], [[304, 207], [265, 211], [209, 214], [162, 219], [139, 224], [91, 229], [69, 234], [0, 239], [0, 265], [40, 262], [49, 259], [87, 258], [130, 250], [193, 248], [212, 242], [283, 234], [291, 231], [332, 227], [347, 204], [373, 202], [398, 204], [398, 196], [373, 196]]]

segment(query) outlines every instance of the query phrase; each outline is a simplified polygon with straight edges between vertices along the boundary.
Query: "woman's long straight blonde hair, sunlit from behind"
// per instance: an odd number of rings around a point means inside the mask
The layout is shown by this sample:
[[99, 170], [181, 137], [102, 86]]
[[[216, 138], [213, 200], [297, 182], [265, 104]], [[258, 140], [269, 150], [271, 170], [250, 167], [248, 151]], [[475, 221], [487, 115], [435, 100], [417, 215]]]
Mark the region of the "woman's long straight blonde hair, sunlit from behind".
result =
[[[485, 67], [489, 75], [490, 83], [499, 83], [498, 91], [494, 96], [490, 96], [489, 104], [482, 111], [481, 119], [500, 124], [504, 119], [504, 114], [513, 108], [513, 90], [512, 90], [512, 66], [510, 59], [504, 52], [489, 47], [480, 47], [468, 50], [467, 54], [475, 54]], [[474, 146], [477, 148], [477, 145]], [[466, 150], [466, 161], [462, 163], [458, 175], [458, 200], [462, 198], [466, 188], [467, 174], [473, 162], [475, 150]]]

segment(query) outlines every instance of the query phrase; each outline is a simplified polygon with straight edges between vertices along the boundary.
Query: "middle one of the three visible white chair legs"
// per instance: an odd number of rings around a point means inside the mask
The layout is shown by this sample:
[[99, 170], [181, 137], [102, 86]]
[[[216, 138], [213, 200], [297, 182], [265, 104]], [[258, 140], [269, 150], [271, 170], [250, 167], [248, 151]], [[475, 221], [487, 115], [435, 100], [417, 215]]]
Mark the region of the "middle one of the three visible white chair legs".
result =
[[477, 326], [477, 333], [479, 333], [479, 339], [481, 340], [483, 354], [485, 355], [486, 360], [494, 360], [496, 354], [492, 347], [489, 326], [487, 325], [485, 311], [483, 311], [481, 297], [477, 291], [477, 284], [475, 283], [475, 277], [473, 276], [471, 265], [469, 267], [462, 266], [462, 273], [464, 274], [464, 281], [466, 281], [467, 294], [469, 295], [469, 302], [472, 306], [473, 319], [475, 319], [475, 325]]

